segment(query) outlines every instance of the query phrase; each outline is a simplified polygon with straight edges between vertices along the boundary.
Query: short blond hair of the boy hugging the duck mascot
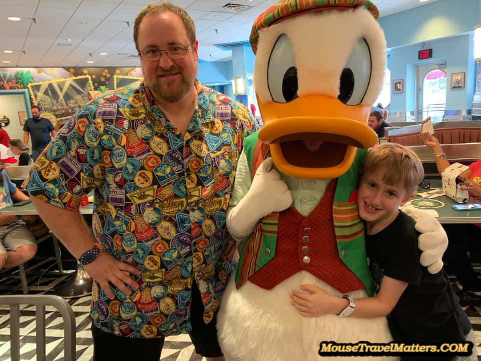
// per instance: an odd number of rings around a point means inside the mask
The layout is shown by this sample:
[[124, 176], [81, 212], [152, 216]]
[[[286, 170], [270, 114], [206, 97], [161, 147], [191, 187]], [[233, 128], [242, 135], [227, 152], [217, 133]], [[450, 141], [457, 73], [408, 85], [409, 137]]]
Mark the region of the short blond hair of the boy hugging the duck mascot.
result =
[[406, 195], [411, 195], [424, 178], [419, 157], [411, 150], [396, 143], [384, 143], [367, 152], [362, 176], [382, 170], [382, 179], [388, 185], [402, 184]]

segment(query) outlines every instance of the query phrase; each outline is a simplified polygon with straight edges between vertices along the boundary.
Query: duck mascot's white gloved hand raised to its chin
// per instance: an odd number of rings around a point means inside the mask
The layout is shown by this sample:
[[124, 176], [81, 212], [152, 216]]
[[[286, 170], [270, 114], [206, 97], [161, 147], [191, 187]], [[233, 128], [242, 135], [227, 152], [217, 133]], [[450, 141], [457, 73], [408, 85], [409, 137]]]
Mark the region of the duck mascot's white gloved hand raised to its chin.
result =
[[249, 191], [239, 204], [227, 210], [227, 229], [236, 240], [249, 236], [261, 218], [280, 212], [292, 204], [291, 192], [266, 158], [257, 168]]

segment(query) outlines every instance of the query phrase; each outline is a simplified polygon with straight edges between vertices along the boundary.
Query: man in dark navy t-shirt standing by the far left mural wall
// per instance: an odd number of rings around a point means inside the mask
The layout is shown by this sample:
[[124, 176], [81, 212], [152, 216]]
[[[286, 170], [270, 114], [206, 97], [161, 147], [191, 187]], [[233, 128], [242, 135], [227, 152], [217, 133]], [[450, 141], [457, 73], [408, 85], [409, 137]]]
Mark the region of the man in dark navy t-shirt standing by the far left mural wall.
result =
[[40, 109], [32, 107], [32, 118], [27, 119], [24, 124], [24, 144], [29, 144], [29, 136], [32, 136], [32, 157], [37, 160], [38, 156], [47, 147], [55, 132], [54, 125], [47, 118], [40, 116]]

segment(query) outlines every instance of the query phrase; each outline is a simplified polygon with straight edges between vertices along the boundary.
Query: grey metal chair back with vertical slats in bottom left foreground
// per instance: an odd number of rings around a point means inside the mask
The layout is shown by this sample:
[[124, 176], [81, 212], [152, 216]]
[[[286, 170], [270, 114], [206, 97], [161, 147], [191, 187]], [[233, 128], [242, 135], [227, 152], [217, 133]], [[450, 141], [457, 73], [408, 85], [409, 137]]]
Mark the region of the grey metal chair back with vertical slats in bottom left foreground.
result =
[[10, 305], [10, 356], [20, 361], [20, 305], [35, 305], [37, 361], [46, 361], [45, 306], [57, 308], [64, 319], [64, 360], [76, 359], [75, 315], [71, 305], [55, 295], [0, 296], [0, 304]]

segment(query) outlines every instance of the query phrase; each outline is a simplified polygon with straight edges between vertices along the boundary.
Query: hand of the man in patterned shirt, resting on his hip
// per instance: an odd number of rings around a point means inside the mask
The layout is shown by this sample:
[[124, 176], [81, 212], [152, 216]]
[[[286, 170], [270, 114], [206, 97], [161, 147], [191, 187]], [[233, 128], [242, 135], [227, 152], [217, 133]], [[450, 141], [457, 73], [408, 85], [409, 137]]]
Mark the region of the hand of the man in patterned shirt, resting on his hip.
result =
[[92, 263], [84, 265], [84, 268], [92, 278], [99, 282], [110, 299], [114, 299], [115, 296], [110, 289], [109, 282], [126, 295], [132, 293], [126, 284], [132, 287], [132, 289], [139, 288], [139, 284], [129, 277], [129, 273], [140, 275], [140, 269], [135, 268], [131, 264], [120, 262], [108, 253], [100, 252], [97, 258]]

